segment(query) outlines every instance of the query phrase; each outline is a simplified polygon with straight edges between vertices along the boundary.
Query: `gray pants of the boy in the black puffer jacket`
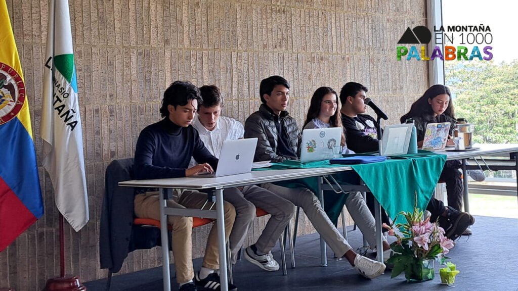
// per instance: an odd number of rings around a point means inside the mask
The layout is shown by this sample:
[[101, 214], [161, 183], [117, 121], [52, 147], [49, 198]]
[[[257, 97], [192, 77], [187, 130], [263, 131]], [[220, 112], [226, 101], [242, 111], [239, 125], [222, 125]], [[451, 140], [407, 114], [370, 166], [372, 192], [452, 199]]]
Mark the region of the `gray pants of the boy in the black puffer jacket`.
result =
[[[290, 200], [296, 206], [300, 206], [309, 221], [317, 232], [324, 238], [325, 242], [339, 257], [343, 256], [349, 250], [351, 245], [343, 238], [338, 229], [327, 217], [322, 209], [319, 199], [307, 188], [286, 188], [271, 183], [262, 185], [264, 188], [275, 192], [277, 195]], [[363, 196], [359, 192], [349, 194], [346, 201], [347, 210], [351, 214], [353, 220], [362, 231], [365, 239], [371, 246], [376, 245], [376, 228], [375, 219], [370, 213]], [[231, 235], [232, 236], [232, 235]]]

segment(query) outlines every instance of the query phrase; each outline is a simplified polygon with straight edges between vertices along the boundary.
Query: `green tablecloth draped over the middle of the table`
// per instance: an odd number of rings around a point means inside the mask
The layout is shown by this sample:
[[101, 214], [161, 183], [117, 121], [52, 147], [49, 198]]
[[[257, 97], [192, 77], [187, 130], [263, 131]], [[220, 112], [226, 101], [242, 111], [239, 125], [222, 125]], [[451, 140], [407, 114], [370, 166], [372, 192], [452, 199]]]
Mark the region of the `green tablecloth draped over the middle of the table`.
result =
[[[439, 180], [445, 161], [445, 155], [419, 151], [417, 154], [392, 156], [384, 162], [349, 166], [362, 178], [372, 192], [372, 195], [376, 197], [389, 216], [395, 219], [400, 211], [413, 210], [416, 194], [418, 208], [426, 209], [428, 201], [434, 193], [435, 185]], [[311, 163], [284, 161], [282, 163], [274, 163], [269, 168], [255, 170], [337, 166], [343, 165], [332, 165], [329, 161]], [[341, 183], [356, 183], [354, 177], [348, 172], [333, 174], [333, 177]], [[317, 178], [312, 177], [283, 181], [277, 184], [285, 187], [307, 187], [313, 193], [316, 193], [318, 189], [317, 183]], [[346, 195], [337, 195], [334, 192], [326, 192], [324, 195], [324, 210], [335, 224], [346, 199]]]

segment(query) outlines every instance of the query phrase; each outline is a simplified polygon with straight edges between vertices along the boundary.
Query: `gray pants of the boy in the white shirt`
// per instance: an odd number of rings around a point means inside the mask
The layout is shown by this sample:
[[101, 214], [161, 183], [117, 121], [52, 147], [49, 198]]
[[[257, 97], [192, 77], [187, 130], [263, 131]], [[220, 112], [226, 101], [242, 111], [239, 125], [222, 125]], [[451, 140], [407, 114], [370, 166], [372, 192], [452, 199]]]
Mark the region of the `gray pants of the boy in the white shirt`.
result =
[[271, 214], [255, 243], [257, 249], [264, 253], [274, 248], [295, 212], [292, 202], [255, 185], [225, 189], [223, 197], [236, 209], [236, 220], [229, 238], [233, 264], [236, 263], [237, 255], [255, 218], [255, 207]]

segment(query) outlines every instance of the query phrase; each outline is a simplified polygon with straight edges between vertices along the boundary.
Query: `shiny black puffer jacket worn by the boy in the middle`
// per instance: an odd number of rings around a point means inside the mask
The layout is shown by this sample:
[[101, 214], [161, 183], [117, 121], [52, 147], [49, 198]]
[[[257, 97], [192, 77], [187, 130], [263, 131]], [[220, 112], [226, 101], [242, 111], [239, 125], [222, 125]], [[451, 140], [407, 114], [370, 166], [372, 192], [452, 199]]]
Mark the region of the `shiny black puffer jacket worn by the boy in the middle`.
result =
[[257, 147], [255, 148], [254, 162], [268, 161], [278, 163], [286, 159], [295, 157], [286, 157], [279, 155], [277, 144], [277, 124], [280, 123], [282, 130], [288, 134], [288, 143], [291, 151], [300, 152], [300, 132], [297, 122], [290, 113], [282, 111], [280, 116], [272, 113], [266, 104], [262, 104], [258, 111], [255, 111], [247, 118], [244, 123], [244, 138], [257, 138]]

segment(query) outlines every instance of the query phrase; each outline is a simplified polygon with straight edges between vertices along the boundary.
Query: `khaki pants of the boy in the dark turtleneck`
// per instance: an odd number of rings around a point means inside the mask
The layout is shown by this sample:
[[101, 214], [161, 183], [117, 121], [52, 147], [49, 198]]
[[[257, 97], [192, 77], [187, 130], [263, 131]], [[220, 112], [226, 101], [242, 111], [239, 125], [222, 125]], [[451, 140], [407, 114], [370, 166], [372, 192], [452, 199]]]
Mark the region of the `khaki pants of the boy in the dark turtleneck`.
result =
[[[176, 199], [175, 199], [176, 200]], [[207, 200], [207, 194], [197, 191], [183, 191], [178, 202], [173, 199], [167, 200], [167, 206], [173, 208], [196, 208], [201, 209]], [[207, 203], [205, 209], [210, 207]], [[236, 211], [231, 203], [224, 202], [225, 216], [225, 240], [232, 231]], [[135, 196], [135, 215], [139, 218], [150, 218], [160, 220], [160, 197], [158, 192], [147, 192]], [[189, 282], [194, 278], [192, 263], [192, 217], [168, 215], [168, 223], [172, 226], [172, 255], [175, 258], [175, 269], [177, 282], [179, 284]], [[212, 224], [203, 266], [209, 269], [218, 270], [220, 268], [218, 253], [218, 227]], [[165, 263], [164, 263], [165, 264]]]

